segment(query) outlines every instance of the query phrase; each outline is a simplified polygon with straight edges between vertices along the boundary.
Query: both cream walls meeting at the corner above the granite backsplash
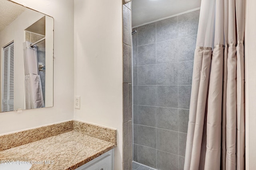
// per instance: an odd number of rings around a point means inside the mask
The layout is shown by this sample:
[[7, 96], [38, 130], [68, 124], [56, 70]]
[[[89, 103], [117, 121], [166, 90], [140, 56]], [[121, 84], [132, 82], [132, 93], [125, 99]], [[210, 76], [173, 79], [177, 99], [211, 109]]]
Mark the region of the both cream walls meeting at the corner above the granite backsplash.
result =
[[[0, 113], [0, 135], [73, 118], [114, 128], [115, 169], [122, 169], [122, 1], [14, 2], [54, 18], [54, 107]], [[81, 109], [74, 110], [74, 93]]]

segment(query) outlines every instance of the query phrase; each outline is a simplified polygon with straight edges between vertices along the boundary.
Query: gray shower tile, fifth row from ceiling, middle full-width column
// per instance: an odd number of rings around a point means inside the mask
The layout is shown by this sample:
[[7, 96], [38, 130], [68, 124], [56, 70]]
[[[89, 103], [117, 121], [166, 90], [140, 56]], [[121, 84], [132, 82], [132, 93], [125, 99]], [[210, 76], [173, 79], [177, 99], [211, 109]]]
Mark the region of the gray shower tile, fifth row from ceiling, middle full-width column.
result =
[[178, 109], [157, 107], [156, 126], [161, 129], [178, 131]]

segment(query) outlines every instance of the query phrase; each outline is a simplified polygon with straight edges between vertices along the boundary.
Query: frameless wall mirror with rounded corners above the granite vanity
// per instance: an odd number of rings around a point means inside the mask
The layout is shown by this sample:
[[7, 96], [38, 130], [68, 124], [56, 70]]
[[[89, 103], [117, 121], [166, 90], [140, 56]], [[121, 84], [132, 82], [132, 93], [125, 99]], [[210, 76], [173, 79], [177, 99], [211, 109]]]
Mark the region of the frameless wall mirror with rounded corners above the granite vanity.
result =
[[53, 106], [53, 18], [0, 0], [0, 111]]

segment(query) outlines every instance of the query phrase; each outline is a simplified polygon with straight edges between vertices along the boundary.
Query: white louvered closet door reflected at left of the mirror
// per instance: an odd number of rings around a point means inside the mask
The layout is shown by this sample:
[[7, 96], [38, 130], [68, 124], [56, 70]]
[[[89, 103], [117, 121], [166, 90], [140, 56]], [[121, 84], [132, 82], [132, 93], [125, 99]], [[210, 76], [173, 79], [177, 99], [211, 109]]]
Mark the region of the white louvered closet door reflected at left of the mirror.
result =
[[14, 43], [3, 48], [2, 111], [14, 110]]

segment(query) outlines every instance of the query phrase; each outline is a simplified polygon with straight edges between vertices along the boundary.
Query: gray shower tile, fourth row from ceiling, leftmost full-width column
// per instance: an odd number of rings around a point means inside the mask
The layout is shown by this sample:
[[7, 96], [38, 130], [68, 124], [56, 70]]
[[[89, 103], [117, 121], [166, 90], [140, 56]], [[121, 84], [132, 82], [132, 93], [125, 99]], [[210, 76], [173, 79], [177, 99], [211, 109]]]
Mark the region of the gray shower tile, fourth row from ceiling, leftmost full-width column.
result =
[[138, 86], [138, 105], [156, 106], [156, 86]]

